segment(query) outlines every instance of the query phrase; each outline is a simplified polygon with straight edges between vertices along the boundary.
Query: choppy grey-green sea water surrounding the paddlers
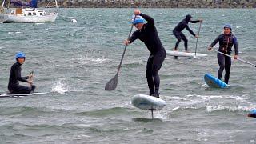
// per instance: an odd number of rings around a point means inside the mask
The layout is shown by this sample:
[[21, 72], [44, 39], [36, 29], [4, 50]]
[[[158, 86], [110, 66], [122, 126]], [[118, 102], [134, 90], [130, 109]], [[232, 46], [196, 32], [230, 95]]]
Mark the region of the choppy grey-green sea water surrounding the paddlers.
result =
[[[117, 89], [104, 90], [118, 69], [133, 9], [61, 9], [53, 23], [1, 23], [0, 91], [7, 91], [14, 54], [23, 51], [22, 75], [34, 70], [36, 91], [46, 94], [0, 99], [0, 143], [255, 143], [256, 121], [246, 117], [256, 108], [255, 67], [233, 61], [229, 89], [210, 89], [203, 80], [206, 73], [217, 75], [216, 52], [207, 46], [225, 23], [233, 25], [238, 38], [238, 58], [256, 64], [255, 10], [142, 13], [154, 18], [166, 50], [174, 47], [172, 30], [186, 14], [203, 19], [198, 52], [208, 54], [166, 56], [159, 71], [166, 106], [154, 112], [154, 119], [130, 102], [135, 94], [148, 94], [149, 52], [139, 40], [127, 47]], [[198, 27], [190, 24], [195, 34]], [[196, 39], [184, 34], [194, 51]], [[178, 50], [184, 50], [183, 42]]]

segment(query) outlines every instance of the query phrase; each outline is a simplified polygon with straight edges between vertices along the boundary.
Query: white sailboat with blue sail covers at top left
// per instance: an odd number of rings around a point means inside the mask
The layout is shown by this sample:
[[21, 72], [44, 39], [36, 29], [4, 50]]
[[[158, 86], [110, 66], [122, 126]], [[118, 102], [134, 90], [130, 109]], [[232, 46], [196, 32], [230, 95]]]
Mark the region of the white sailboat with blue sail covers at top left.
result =
[[[10, 0], [10, 4], [19, 6], [10, 13], [4, 13], [5, 0], [2, 2], [2, 8], [0, 14], [0, 22], [54, 22], [58, 16], [57, 12], [46, 13], [45, 10], [38, 10], [38, 0], [31, 0], [30, 2], [22, 2], [20, 0]], [[55, 7], [58, 10], [58, 4], [55, 0]], [[23, 8], [23, 6], [26, 6]]]

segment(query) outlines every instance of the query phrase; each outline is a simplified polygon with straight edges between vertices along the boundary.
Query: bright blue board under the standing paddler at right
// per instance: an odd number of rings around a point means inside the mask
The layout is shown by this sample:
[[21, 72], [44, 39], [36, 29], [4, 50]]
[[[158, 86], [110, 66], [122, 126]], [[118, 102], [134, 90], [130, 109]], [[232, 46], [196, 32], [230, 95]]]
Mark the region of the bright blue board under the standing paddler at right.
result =
[[210, 74], [205, 74], [204, 76], [205, 82], [209, 87], [214, 87], [214, 88], [227, 88], [228, 85], [219, 80], [218, 78], [215, 78], [214, 76]]

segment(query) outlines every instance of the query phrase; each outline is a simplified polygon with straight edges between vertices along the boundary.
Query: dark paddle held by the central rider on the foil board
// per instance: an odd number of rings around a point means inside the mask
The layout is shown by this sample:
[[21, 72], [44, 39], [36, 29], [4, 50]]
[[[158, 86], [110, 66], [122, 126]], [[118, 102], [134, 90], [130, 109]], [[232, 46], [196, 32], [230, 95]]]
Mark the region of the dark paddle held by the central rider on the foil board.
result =
[[[136, 18], [136, 16], [135, 16], [135, 18]], [[135, 21], [135, 18], [134, 18], [134, 21]], [[130, 38], [130, 34], [131, 34], [131, 31], [133, 30], [133, 27], [134, 27], [134, 25], [132, 24], [131, 27], [130, 27], [130, 33], [128, 35], [128, 38]], [[120, 68], [121, 68], [121, 65], [122, 65], [122, 60], [123, 60], [123, 57], [126, 53], [126, 47], [127, 46], [128, 45], [126, 45], [125, 50], [123, 50], [121, 62], [118, 66], [118, 72], [117, 72], [117, 74], [115, 74], [114, 78], [110, 79], [110, 81], [106, 83], [105, 90], [114, 90], [118, 86], [118, 73], [120, 71]]]

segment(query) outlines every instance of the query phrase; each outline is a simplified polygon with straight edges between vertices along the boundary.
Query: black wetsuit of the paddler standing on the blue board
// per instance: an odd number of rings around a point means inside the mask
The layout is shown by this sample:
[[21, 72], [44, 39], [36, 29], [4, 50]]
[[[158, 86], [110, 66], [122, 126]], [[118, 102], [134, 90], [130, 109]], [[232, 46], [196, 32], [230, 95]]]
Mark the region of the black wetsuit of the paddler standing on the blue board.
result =
[[[210, 45], [210, 47], [214, 47], [216, 43], [219, 42], [219, 48], [218, 51], [230, 55], [232, 52], [232, 46], [234, 45], [234, 53], [235, 55], [238, 55], [238, 41], [237, 38], [233, 34], [220, 34], [218, 37], [214, 40], [214, 42]], [[222, 73], [225, 69], [225, 78], [224, 82], [228, 84], [230, 79], [230, 67], [231, 67], [231, 58], [223, 55], [223, 54], [217, 54], [218, 58], [218, 79], [222, 79]]]

